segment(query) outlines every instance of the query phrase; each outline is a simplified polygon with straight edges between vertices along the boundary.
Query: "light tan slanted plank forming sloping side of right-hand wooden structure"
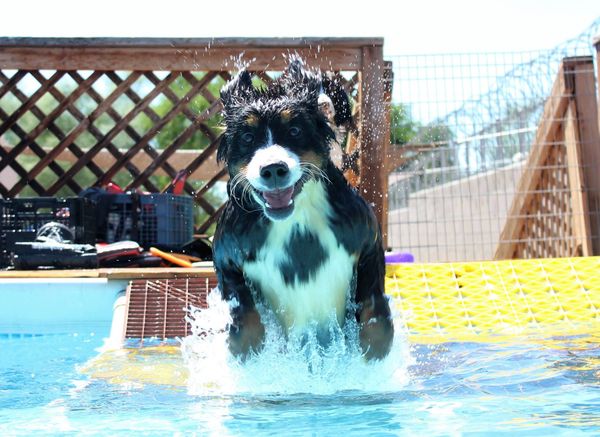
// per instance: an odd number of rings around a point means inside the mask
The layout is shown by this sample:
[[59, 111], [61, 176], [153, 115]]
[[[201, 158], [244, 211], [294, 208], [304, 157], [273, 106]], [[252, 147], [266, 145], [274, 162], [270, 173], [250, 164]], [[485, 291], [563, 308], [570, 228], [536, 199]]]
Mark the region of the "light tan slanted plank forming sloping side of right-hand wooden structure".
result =
[[549, 149], [557, 140], [557, 132], [563, 122], [572, 90], [565, 83], [566, 62], [559, 68], [558, 76], [552, 86], [550, 97], [544, 105], [544, 112], [536, 131], [529, 157], [517, 184], [515, 196], [508, 210], [506, 223], [500, 233], [500, 240], [494, 259], [512, 259], [523, 230], [521, 216], [527, 210], [539, 183], [542, 166], [548, 156]]

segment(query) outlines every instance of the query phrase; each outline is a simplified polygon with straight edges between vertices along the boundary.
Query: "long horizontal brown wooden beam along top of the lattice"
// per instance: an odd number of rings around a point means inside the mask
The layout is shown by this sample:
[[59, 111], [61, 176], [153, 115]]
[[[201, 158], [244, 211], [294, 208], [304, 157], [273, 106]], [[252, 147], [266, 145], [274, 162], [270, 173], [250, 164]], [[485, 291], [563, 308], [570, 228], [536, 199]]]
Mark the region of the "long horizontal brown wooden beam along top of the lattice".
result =
[[[373, 46], [369, 46], [373, 47]], [[374, 46], [381, 47], [381, 46]], [[323, 70], [359, 70], [361, 48], [318, 46], [256, 47], [24, 47], [0, 46], [0, 68], [27, 70], [138, 70], [229, 71], [232, 59], [252, 60], [252, 70], [283, 70], [286, 56], [298, 53], [311, 67]]]

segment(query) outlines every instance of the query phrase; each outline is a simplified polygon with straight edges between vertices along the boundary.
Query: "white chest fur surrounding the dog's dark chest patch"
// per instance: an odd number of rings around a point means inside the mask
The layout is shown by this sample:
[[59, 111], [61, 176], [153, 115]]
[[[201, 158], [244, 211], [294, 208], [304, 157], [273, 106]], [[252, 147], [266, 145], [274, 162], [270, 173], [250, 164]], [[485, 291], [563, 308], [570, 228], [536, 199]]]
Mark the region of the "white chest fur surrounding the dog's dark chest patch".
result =
[[[307, 182], [295, 199], [294, 213], [273, 222], [256, 260], [244, 265], [246, 278], [259, 288], [279, 320], [289, 330], [337, 318], [343, 323], [356, 256], [338, 243], [329, 227], [331, 208], [321, 182]], [[282, 263], [289, 262], [286, 245], [300, 229], [318, 237], [325, 256], [306, 280], [286, 281]], [[301, 254], [310, 257], [310, 253]]]

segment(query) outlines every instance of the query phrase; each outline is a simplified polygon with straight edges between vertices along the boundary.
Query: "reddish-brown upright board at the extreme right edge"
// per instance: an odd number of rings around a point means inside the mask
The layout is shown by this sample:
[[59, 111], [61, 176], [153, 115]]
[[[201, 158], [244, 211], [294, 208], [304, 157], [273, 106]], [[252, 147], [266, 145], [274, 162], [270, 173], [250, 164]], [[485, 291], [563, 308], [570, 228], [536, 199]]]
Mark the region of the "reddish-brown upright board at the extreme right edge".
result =
[[583, 165], [583, 185], [592, 238], [592, 254], [600, 255], [600, 132], [594, 63], [591, 56], [576, 58], [572, 66], [575, 117]]

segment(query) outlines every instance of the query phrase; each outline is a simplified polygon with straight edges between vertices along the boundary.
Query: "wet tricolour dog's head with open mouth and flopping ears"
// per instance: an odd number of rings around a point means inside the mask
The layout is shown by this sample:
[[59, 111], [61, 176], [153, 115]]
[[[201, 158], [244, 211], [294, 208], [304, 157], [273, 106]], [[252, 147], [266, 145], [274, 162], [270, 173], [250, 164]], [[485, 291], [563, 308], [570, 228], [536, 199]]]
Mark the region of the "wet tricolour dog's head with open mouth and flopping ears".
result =
[[325, 177], [333, 131], [319, 109], [321, 76], [293, 59], [266, 88], [241, 71], [221, 90], [226, 131], [217, 159], [227, 165], [230, 196], [284, 220], [311, 178]]

